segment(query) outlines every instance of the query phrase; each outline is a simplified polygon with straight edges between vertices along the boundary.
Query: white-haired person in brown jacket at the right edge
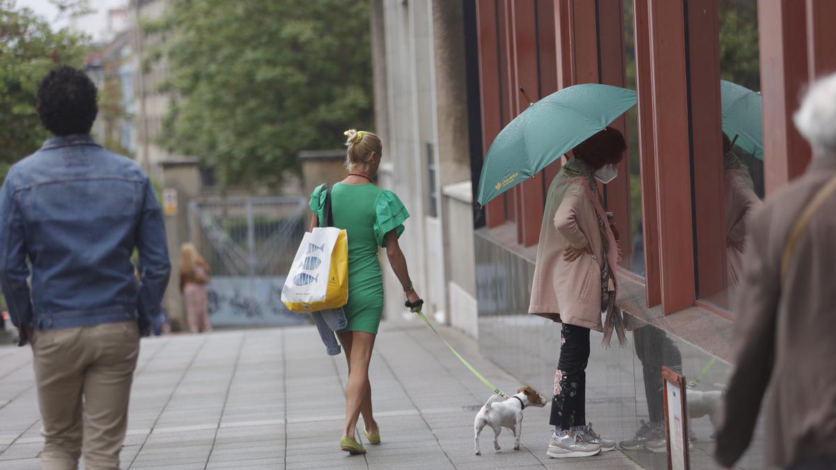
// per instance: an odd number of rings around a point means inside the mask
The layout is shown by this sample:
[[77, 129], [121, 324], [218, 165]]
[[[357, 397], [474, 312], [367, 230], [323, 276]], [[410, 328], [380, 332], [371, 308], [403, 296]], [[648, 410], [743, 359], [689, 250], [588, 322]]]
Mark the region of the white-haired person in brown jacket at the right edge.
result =
[[769, 386], [767, 467], [836, 468], [836, 74], [813, 84], [794, 120], [814, 157], [748, 227], [714, 454], [724, 467], [752, 441]]

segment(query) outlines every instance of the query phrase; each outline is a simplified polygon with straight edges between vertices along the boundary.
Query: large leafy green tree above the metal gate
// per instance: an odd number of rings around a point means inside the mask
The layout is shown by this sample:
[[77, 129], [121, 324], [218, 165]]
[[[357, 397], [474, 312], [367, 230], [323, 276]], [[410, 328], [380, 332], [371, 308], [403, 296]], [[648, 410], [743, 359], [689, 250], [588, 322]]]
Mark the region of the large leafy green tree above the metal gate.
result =
[[172, 0], [145, 25], [166, 40], [172, 106], [161, 143], [228, 184], [281, 185], [304, 149], [371, 123], [368, 2]]

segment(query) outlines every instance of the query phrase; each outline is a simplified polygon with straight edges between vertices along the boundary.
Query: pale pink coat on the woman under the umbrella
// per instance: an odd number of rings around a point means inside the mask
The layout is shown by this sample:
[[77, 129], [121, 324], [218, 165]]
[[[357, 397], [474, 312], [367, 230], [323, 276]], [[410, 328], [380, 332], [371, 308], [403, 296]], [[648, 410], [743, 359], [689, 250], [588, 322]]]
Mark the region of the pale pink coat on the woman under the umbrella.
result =
[[[528, 312], [565, 324], [604, 331], [601, 322], [601, 267], [604, 244], [595, 207], [581, 178], [559, 176], [548, 189]], [[592, 247], [573, 262], [563, 250]]]

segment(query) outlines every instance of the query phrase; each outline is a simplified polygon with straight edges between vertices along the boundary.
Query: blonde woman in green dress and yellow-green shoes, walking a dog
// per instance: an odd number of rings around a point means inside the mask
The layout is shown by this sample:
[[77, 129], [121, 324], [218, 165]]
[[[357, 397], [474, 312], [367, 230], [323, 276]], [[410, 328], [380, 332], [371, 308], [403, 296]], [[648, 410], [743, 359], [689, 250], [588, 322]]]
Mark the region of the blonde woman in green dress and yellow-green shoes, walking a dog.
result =
[[[383, 156], [380, 137], [363, 130], [347, 130], [348, 140], [345, 165], [349, 176], [331, 189], [331, 211], [334, 227], [343, 228], [349, 239], [349, 302], [345, 316], [349, 320], [344, 330], [337, 332], [349, 363], [349, 381], [345, 386], [345, 427], [339, 447], [351, 454], [365, 452], [354, 438], [359, 415], [363, 415], [364, 433], [370, 444], [380, 443], [380, 430], [372, 416], [369, 362], [375, 346], [380, 315], [383, 314], [383, 278], [380, 273], [378, 248], [386, 248], [386, 257], [395, 276], [404, 288], [406, 300], [418, 303], [406, 268], [404, 253], [398, 238], [404, 231], [403, 222], [410, 217], [394, 192], [381, 190], [372, 184]], [[324, 220], [325, 185], [311, 195], [310, 208], [314, 211], [311, 228]]]

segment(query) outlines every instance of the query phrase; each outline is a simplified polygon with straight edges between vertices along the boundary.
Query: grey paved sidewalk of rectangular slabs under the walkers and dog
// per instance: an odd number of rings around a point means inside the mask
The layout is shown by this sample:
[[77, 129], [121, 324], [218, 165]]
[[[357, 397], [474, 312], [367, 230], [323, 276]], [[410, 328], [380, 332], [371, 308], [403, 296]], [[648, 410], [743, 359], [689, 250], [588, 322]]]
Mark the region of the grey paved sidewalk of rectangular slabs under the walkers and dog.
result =
[[[442, 332], [490, 381], [516, 390], [475, 342]], [[2, 468], [38, 468], [43, 440], [31, 363], [29, 348], [0, 347]], [[548, 459], [548, 406], [525, 411], [522, 450], [512, 451], [503, 430], [494, 453], [483, 432], [483, 455], [474, 456], [473, 416], [491, 392], [417, 321], [381, 326], [370, 377], [383, 443], [348, 457], [338, 445], [344, 356], [326, 355], [313, 327], [145, 339], [122, 467], [636, 468], [618, 451]]]

